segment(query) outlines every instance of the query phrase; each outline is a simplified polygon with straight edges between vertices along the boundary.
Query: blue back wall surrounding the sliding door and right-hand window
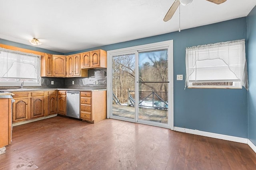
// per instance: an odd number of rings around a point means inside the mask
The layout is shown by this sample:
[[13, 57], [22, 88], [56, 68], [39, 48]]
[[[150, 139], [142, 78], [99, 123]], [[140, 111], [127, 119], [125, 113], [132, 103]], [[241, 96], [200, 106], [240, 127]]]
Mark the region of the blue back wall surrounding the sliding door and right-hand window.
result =
[[[174, 78], [185, 77], [185, 49], [196, 45], [246, 39], [246, 18], [205, 25], [181, 32], [137, 39], [93, 49], [106, 51], [159, 41], [174, 41]], [[174, 79], [174, 126], [248, 138], [247, 91], [243, 89], [188, 89]]]

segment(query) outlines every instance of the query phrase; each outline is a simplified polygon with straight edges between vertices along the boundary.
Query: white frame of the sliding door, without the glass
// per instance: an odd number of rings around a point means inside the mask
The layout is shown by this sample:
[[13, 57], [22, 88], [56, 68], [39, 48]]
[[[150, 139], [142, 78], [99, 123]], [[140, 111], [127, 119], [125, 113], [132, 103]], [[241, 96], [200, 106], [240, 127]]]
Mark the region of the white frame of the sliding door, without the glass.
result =
[[[168, 49], [168, 81], [169, 81], [169, 83], [168, 83], [168, 125], [155, 125], [154, 123], [138, 121], [137, 114], [135, 114], [134, 120], [121, 118], [121, 117], [120, 118], [118, 117], [118, 119], [124, 120], [124, 121], [148, 124], [148, 125], [153, 125], [153, 126], [159, 126], [159, 127], [164, 127], [164, 128], [173, 130], [173, 127], [174, 127], [173, 40], [107, 51], [107, 57], [108, 57], [107, 58], [107, 63], [108, 63], [108, 67], [107, 67], [107, 118], [113, 118], [113, 117], [111, 117], [111, 113], [112, 113], [112, 57], [117, 56], [117, 55], [122, 55], [122, 54], [134, 53], [136, 55], [135, 75], [138, 78], [138, 69], [137, 69], [138, 68], [138, 52], [154, 51], [154, 50], [158, 50], [158, 49]], [[137, 81], [138, 80], [135, 80], [135, 92], [136, 92], [135, 98], [138, 101], [138, 83], [137, 83]], [[136, 102], [135, 109], [137, 109], [135, 111], [135, 113], [138, 113], [138, 102]]]

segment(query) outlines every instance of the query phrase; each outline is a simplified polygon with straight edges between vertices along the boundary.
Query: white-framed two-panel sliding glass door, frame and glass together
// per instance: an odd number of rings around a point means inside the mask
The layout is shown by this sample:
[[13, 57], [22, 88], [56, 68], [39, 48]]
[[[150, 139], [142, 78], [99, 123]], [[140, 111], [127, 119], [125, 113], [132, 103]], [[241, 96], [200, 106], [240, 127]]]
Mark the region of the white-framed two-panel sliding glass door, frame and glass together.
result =
[[[172, 127], [170, 45], [108, 54], [108, 113], [113, 119]], [[170, 122], [171, 121], [171, 122]]]

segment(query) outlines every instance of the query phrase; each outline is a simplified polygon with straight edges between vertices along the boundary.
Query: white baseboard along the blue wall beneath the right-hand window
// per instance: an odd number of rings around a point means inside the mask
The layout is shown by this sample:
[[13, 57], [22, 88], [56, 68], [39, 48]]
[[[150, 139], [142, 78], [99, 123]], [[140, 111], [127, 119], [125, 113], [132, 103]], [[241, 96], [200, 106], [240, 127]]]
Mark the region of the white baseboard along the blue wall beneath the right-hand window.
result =
[[248, 139], [247, 138], [234, 137], [234, 136], [229, 136], [229, 135], [222, 135], [222, 134], [218, 134], [218, 133], [198, 131], [198, 130], [193, 130], [193, 129], [186, 129], [186, 128], [182, 128], [182, 127], [174, 127], [173, 129], [174, 129], [174, 131], [179, 131], [179, 132], [190, 133], [190, 134], [194, 134], [194, 135], [200, 135], [200, 136], [212, 137], [212, 138], [216, 138], [216, 139], [223, 139], [223, 140], [226, 140], [226, 141], [233, 141], [233, 142], [248, 144]]

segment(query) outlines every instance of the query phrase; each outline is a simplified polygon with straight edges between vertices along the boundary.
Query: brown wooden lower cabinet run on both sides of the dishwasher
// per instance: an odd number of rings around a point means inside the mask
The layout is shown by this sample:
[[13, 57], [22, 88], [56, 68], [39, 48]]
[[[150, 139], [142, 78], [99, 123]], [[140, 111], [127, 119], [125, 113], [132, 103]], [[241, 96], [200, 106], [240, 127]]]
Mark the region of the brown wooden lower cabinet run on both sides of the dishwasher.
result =
[[[56, 113], [66, 115], [66, 90], [13, 93], [14, 123]], [[106, 119], [106, 90], [80, 92], [80, 119], [91, 123]]]

